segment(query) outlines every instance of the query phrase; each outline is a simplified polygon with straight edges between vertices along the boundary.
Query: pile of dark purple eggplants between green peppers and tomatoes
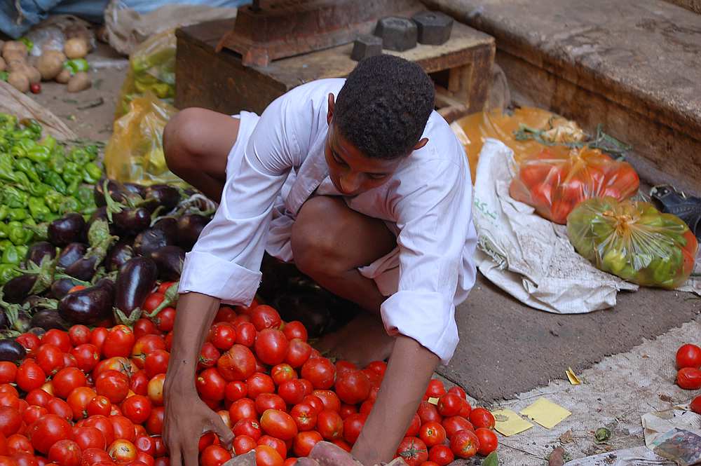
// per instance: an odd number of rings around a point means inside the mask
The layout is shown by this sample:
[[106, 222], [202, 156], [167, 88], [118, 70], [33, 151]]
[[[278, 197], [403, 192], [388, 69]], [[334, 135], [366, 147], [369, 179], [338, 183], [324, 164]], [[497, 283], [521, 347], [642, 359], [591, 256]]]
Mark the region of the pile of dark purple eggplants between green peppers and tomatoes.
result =
[[[158, 282], [179, 280], [185, 253], [213, 213], [200, 194], [163, 184], [104, 179], [94, 196], [92, 216], [69, 213], [36, 228], [41, 240], [29, 247], [18, 268], [22, 275], [0, 289], [0, 334], [113, 317], [133, 324]], [[177, 284], [171, 288], [167, 301], [177, 297]]]

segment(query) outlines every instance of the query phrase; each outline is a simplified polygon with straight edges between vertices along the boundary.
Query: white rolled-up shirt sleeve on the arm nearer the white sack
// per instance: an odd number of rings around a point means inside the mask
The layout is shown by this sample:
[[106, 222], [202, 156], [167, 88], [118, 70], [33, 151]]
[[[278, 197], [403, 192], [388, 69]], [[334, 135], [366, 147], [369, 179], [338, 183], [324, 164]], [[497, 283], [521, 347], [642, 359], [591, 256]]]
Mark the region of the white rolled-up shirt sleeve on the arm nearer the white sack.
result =
[[414, 338], [445, 364], [458, 345], [454, 297], [472, 231], [472, 185], [463, 165], [435, 160], [430, 166], [428, 176], [423, 170], [412, 177], [416, 186], [394, 207], [400, 277], [381, 315], [390, 335]]

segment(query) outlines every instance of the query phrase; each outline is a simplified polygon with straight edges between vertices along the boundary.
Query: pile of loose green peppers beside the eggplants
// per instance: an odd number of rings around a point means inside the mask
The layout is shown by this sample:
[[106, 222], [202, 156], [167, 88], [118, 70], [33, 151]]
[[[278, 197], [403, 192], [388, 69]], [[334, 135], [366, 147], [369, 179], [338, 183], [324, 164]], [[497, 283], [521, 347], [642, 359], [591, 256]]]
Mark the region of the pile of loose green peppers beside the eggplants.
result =
[[16, 275], [38, 224], [96, 210], [97, 146], [67, 149], [36, 120], [0, 113], [0, 283]]

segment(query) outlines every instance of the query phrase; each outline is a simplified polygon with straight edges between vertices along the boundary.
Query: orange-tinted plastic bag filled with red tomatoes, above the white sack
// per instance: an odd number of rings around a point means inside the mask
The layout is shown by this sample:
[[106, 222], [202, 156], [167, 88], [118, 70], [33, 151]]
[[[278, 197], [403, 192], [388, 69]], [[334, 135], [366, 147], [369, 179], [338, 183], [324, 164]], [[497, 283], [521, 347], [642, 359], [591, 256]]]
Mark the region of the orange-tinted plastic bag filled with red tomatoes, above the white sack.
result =
[[637, 193], [639, 184], [629, 163], [613, 160], [599, 149], [555, 146], [523, 160], [509, 192], [542, 217], [565, 224], [583, 200], [604, 196], [624, 200]]

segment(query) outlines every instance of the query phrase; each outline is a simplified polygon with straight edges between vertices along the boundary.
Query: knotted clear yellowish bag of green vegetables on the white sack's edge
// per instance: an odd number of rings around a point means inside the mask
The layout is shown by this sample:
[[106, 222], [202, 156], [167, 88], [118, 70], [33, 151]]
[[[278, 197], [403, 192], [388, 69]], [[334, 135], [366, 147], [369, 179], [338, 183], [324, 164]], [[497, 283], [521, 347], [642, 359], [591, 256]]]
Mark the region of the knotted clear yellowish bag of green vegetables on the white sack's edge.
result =
[[650, 203], [585, 200], [567, 219], [577, 252], [604, 272], [648, 287], [674, 289], [688, 280], [698, 249], [688, 226]]

